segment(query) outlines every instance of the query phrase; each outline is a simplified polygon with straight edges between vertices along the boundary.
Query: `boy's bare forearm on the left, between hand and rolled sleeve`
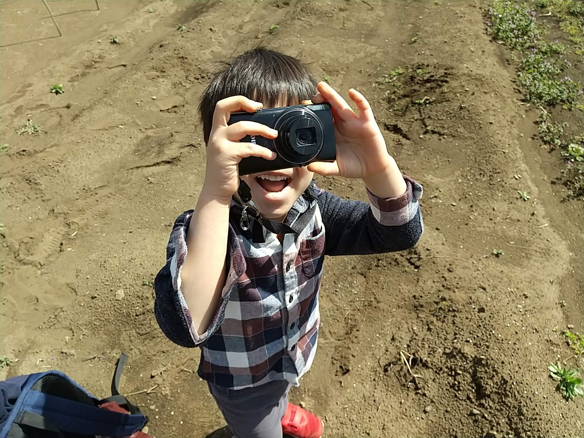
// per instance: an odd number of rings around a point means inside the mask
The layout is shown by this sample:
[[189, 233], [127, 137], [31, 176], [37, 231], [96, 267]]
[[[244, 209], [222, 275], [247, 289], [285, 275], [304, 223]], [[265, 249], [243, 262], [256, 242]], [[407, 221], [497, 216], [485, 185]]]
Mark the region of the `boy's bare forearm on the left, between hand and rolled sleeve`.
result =
[[225, 285], [229, 208], [230, 201], [217, 199], [203, 187], [186, 235], [181, 291], [200, 335], [207, 331]]

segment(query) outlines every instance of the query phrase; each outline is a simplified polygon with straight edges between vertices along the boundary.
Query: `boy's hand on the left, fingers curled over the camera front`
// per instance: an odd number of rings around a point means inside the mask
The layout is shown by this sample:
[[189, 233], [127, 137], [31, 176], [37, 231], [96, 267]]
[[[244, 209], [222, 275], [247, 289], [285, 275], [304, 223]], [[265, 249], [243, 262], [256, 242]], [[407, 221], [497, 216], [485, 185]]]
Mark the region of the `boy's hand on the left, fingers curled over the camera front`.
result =
[[207, 171], [203, 190], [218, 200], [231, 202], [231, 196], [239, 188], [238, 165], [242, 158], [260, 157], [272, 160], [276, 152], [258, 144], [240, 142], [246, 135], [276, 138], [278, 131], [255, 121], [239, 121], [228, 125], [231, 113], [256, 112], [261, 102], [244, 96], [233, 96], [217, 102], [213, 114], [213, 126], [207, 144]]

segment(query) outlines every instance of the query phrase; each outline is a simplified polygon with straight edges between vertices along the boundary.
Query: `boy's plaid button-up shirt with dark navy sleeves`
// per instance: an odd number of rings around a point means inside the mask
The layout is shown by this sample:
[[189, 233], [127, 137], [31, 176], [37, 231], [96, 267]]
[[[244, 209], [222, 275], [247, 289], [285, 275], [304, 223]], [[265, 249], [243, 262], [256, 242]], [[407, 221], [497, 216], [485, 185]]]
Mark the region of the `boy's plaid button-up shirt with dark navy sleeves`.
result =
[[181, 292], [193, 213], [186, 211], [175, 222], [167, 263], [155, 280], [155, 315], [162, 331], [179, 345], [201, 347], [199, 376], [215, 385], [236, 390], [273, 380], [298, 385], [317, 348], [324, 256], [401, 251], [422, 234], [422, 186], [404, 178], [408, 188], [402, 196], [378, 199], [367, 190], [369, 204], [321, 189], [317, 200], [301, 196], [284, 223], [310, 214], [316, 202], [314, 214], [303, 231], [284, 234], [281, 241], [266, 231], [265, 242], [253, 242], [252, 229], [239, 227], [241, 210], [232, 207], [227, 280], [204, 333], [197, 332]]

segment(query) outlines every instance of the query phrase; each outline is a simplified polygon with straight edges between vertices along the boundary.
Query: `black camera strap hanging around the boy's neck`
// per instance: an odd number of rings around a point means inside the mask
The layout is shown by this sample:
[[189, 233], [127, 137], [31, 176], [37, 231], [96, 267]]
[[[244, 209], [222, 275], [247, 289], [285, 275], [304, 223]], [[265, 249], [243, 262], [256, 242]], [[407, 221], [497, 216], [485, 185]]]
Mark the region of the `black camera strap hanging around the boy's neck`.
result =
[[[240, 179], [237, 194], [234, 195], [234, 200], [243, 208], [241, 218], [239, 219], [239, 227], [244, 231], [253, 227], [252, 238], [255, 243], [265, 243], [266, 237], [264, 228], [274, 234], [300, 234], [300, 232], [306, 228], [306, 225], [308, 225], [317, 209], [317, 203], [315, 201], [318, 198], [318, 193], [314, 187], [314, 181], [308, 185], [304, 195], [310, 202], [308, 210], [301, 213], [294, 223], [286, 225], [278, 221], [263, 218], [258, 207], [256, 207], [256, 204], [252, 201], [251, 189], [244, 180]], [[251, 218], [253, 218], [253, 225]]]

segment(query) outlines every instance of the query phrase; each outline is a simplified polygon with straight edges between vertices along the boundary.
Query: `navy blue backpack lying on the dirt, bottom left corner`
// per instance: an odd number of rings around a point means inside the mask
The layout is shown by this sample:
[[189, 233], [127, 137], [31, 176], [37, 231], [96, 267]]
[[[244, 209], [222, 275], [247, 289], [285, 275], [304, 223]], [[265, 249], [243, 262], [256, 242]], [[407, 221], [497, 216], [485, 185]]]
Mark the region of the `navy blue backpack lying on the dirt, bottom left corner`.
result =
[[[148, 422], [118, 388], [127, 355], [112, 379], [112, 397], [98, 399], [61, 371], [46, 371], [0, 382], [0, 438], [126, 437]], [[130, 413], [99, 405], [114, 401]]]

